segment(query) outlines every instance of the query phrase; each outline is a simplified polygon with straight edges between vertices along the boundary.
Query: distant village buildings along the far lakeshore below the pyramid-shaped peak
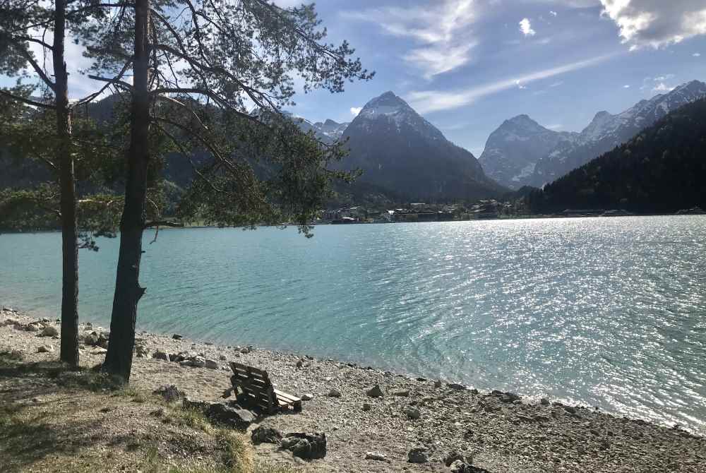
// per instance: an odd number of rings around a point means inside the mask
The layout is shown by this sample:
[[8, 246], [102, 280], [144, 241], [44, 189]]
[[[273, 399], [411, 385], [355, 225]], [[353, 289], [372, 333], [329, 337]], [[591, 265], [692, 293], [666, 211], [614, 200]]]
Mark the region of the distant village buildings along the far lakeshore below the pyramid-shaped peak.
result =
[[361, 206], [323, 210], [315, 224], [450, 222], [529, 216], [522, 202], [479, 200], [472, 205], [409, 203], [400, 208], [372, 209]]

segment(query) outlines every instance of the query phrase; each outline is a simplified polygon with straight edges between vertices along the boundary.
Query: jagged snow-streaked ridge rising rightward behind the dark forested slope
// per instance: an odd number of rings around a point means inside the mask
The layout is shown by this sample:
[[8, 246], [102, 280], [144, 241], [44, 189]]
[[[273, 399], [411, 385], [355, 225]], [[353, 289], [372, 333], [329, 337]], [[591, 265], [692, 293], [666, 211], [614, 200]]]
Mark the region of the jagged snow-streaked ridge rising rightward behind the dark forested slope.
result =
[[669, 93], [640, 100], [617, 115], [598, 112], [576, 140], [568, 140], [537, 161], [534, 174], [525, 184], [542, 186], [563, 176], [602, 153], [625, 143], [642, 129], [669, 112], [706, 96], [706, 83], [693, 80]]

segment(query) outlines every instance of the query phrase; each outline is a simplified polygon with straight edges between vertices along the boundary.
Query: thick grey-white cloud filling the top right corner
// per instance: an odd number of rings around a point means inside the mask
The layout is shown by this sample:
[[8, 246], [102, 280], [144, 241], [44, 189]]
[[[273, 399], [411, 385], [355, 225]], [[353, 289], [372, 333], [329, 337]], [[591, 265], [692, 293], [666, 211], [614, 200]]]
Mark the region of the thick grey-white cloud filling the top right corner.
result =
[[631, 47], [666, 47], [706, 34], [703, 0], [601, 0], [602, 15], [620, 28]]

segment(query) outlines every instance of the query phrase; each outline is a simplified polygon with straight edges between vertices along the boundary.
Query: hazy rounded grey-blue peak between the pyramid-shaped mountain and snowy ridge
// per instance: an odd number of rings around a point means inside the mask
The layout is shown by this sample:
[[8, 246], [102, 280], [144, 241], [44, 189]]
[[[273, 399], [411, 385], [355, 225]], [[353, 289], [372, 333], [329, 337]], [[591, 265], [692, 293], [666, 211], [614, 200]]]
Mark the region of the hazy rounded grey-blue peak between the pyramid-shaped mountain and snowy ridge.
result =
[[527, 115], [503, 121], [486, 141], [479, 162], [486, 174], [517, 189], [532, 179], [537, 162], [558, 146], [577, 140], [578, 133], [552, 131]]

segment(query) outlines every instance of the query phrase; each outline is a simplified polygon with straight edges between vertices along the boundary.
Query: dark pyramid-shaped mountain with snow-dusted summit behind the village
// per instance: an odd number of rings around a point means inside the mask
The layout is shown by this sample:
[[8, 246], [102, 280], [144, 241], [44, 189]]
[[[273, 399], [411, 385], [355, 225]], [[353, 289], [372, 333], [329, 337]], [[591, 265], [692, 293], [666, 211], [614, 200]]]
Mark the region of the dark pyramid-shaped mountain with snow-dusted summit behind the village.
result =
[[506, 191], [470, 152], [393, 92], [365, 104], [342, 138], [349, 140], [350, 151], [342, 169], [359, 168], [359, 181], [409, 200], [475, 199]]

